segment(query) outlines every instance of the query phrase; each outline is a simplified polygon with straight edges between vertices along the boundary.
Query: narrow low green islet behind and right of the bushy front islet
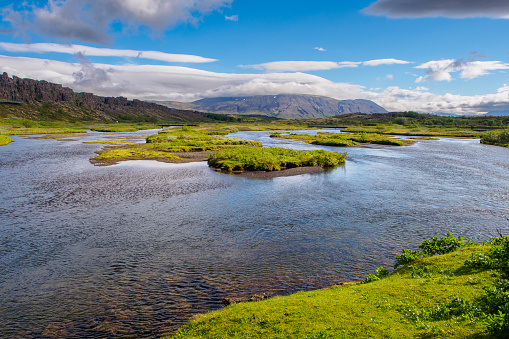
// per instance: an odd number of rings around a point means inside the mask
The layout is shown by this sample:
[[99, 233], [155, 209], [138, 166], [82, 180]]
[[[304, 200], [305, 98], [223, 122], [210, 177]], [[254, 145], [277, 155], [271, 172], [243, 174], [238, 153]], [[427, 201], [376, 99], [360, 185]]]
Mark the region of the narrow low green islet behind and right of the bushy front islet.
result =
[[272, 133], [273, 138], [284, 138], [301, 140], [303, 142], [323, 145], [323, 146], [359, 146], [360, 144], [379, 144], [379, 145], [392, 145], [392, 146], [408, 146], [413, 144], [413, 140], [395, 139], [390, 136], [378, 133], [325, 133], [318, 132], [316, 135], [309, 134], [282, 134]]

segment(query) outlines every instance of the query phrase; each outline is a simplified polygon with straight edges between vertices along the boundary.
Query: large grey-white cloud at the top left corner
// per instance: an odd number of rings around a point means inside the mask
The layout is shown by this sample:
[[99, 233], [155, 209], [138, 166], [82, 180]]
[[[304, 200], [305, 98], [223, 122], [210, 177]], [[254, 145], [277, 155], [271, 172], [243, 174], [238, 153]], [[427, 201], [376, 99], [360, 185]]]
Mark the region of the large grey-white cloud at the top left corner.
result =
[[44, 7], [2, 13], [13, 29], [65, 41], [111, 42], [110, 25], [148, 27], [160, 32], [183, 22], [196, 23], [202, 16], [229, 6], [233, 0], [48, 0]]

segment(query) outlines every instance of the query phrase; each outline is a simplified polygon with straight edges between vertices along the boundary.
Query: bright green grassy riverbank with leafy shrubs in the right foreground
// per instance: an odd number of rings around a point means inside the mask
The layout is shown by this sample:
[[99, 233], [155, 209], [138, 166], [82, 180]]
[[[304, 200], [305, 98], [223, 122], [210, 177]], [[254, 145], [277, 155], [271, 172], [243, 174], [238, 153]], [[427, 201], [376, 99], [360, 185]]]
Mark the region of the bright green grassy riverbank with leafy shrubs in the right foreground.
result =
[[[500, 239], [458, 250], [450, 237], [438, 238], [428, 250], [452, 252], [420, 252], [425, 257], [412, 262], [407, 251], [398, 260], [405, 266], [388, 276], [379, 268], [365, 283], [230, 305], [172, 338], [507, 338], [509, 281], [500, 278], [509, 238]], [[505, 262], [493, 264], [496, 256]]]

